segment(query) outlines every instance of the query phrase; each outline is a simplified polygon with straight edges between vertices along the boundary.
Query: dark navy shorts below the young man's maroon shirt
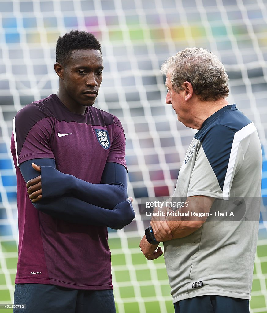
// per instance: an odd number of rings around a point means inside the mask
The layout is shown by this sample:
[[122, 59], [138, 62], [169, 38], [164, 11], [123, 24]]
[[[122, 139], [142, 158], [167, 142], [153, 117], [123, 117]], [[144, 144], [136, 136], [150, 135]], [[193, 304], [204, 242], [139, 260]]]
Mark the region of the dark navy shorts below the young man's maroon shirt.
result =
[[54, 285], [16, 284], [13, 313], [116, 313], [113, 290], [77, 290]]

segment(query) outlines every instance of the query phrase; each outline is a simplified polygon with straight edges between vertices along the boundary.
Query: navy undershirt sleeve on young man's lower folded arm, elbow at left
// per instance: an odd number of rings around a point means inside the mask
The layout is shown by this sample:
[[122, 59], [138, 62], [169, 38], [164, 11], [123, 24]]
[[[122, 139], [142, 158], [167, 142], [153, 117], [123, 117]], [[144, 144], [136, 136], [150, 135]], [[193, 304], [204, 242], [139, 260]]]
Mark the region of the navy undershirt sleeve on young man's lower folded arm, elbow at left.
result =
[[[55, 166], [55, 160], [50, 158], [33, 159], [23, 162], [19, 168], [25, 182], [40, 175], [39, 172], [33, 169], [31, 166], [32, 163], [38, 164], [41, 167]], [[114, 229], [125, 227], [135, 218], [130, 200], [123, 201], [112, 210], [108, 210], [74, 198], [71, 194], [66, 194], [58, 198], [41, 199], [33, 203], [33, 205], [41, 212], [70, 223], [107, 226]]]

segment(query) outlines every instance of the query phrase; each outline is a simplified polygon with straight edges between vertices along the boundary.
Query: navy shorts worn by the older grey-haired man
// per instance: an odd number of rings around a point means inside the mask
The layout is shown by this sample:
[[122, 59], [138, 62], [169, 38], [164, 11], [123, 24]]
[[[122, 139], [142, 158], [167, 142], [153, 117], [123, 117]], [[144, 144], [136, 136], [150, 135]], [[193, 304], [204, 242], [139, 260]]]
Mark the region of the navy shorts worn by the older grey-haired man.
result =
[[175, 313], [249, 313], [249, 300], [203, 295], [174, 303]]

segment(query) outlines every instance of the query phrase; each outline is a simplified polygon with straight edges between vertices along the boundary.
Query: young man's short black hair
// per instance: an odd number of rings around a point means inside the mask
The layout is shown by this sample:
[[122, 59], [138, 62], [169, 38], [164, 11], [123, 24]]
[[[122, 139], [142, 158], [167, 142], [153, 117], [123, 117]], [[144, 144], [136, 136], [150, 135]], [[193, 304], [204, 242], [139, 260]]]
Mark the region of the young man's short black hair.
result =
[[56, 46], [56, 62], [65, 66], [73, 50], [95, 49], [101, 52], [100, 42], [92, 33], [72, 30], [58, 38]]

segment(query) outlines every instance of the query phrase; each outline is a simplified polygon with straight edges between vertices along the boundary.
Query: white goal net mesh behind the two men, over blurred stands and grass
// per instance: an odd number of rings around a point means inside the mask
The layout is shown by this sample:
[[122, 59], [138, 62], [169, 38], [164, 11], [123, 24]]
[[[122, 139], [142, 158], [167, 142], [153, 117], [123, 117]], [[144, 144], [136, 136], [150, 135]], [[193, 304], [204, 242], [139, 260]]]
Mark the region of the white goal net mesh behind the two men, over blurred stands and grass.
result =
[[[110, 232], [117, 311], [173, 312], [163, 257], [147, 262], [139, 249], [147, 223], [141, 197], [172, 194], [194, 131], [165, 104], [160, 73], [185, 47], [218, 55], [230, 79], [229, 102], [254, 121], [263, 148], [267, 131], [267, 4], [264, 0], [0, 1], [0, 304], [13, 301], [17, 262], [16, 181], [9, 152], [12, 120], [24, 105], [58, 88], [55, 44], [71, 29], [101, 42], [104, 72], [96, 106], [125, 129], [128, 194], [136, 219]], [[267, 195], [264, 158], [263, 195]], [[263, 220], [267, 217], [263, 213]], [[267, 231], [260, 223], [251, 312], [266, 312]]]

